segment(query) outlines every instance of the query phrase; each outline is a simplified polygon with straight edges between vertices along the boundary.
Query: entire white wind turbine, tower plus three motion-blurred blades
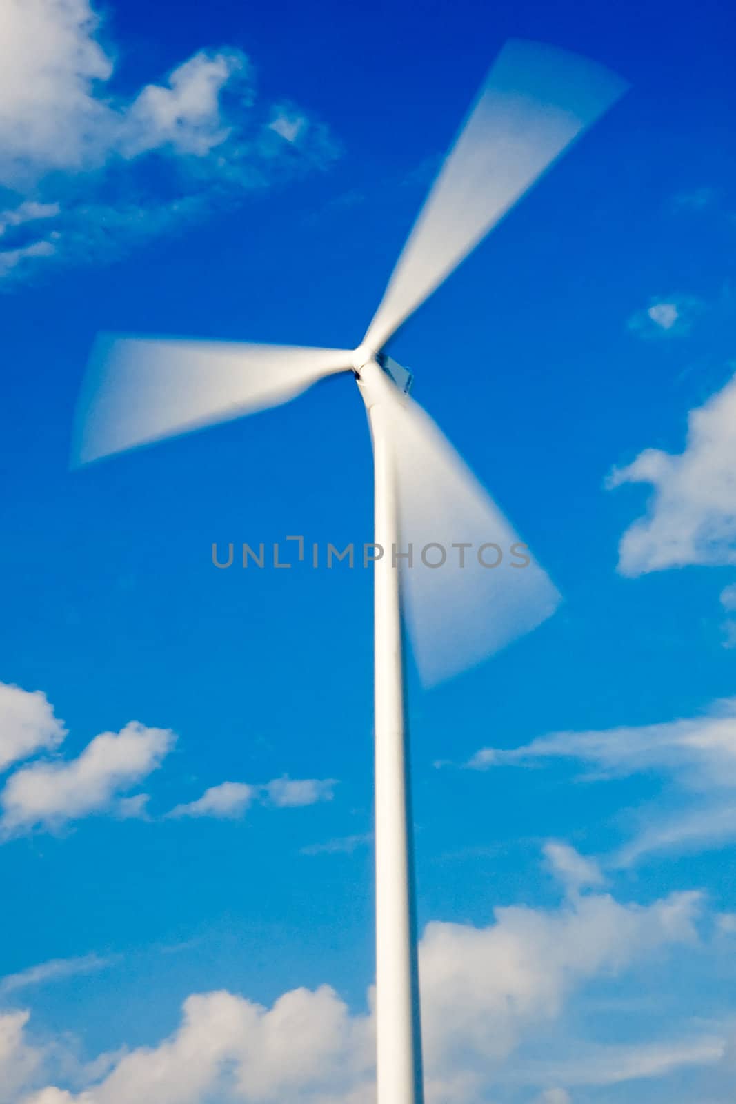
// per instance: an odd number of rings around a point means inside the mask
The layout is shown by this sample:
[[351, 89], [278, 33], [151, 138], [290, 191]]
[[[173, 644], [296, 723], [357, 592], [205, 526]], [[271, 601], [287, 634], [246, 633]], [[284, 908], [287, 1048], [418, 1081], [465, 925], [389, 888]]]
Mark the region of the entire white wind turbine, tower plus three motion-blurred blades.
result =
[[[276, 406], [327, 375], [352, 372], [358, 381], [373, 438], [378, 546], [374, 564], [378, 1104], [423, 1100], [402, 617], [412, 631], [419, 672], [425, 682], [434, 682], [534, 628], [559, 601], [537, 564], [497, 563], [497, 549], [506, 554], [518, 538], [435, 423], [408, 397], [409, 373], [383, 349], [626, 87], [607, 70], [575, 54], [532, 42], [506, 43], [356, 349], [103, 337], [79, 400], [74, 459], [84, 464]], [[402, 554], [409, 545], [410, 564]]]

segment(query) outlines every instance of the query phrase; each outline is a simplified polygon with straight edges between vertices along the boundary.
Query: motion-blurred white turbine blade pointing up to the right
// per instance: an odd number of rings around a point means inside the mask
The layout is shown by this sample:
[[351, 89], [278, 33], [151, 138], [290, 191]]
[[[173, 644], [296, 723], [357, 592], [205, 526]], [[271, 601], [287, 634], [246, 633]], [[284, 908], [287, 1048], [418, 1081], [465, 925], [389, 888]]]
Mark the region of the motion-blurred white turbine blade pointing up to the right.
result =
[[429, 193], [364, 343], [381, 350], [627, 87], [577, 54], [537, 42], [508, 42]]

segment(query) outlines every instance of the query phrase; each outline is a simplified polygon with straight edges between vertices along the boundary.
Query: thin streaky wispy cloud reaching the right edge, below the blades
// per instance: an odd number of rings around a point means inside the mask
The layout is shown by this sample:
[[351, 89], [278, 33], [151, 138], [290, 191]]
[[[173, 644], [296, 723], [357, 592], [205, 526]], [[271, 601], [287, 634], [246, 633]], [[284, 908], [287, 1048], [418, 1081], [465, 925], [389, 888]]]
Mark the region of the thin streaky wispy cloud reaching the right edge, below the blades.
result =
[[[521, 747], [482, 749], [471, 763], [529, 766], [550, 760], [585, 764], [588, 779], [641, 772], [666, 774], [681, 790], [676, 815], [660, 807], [647, 810], [640, 832], [616, 857], [618, 866], [630, 866], [652, 851], [736, 839], [736, 698], [715, 702], [701, 716], [598, 731], [553, 732]], [[563, 854], [563, 861], [569, 862], [569, 856]], [[559, 864], [559, 852], [556, 860]]]

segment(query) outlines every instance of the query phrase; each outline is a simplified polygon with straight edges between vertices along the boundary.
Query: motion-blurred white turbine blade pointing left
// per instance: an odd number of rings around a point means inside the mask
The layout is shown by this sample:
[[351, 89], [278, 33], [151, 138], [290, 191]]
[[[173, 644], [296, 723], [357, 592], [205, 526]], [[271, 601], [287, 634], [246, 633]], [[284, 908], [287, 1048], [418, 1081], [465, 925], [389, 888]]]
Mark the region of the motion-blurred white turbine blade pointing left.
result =
[[79, 397], [73, 461], [277, 406], [351, 363], [339, 349], [106, 335]]

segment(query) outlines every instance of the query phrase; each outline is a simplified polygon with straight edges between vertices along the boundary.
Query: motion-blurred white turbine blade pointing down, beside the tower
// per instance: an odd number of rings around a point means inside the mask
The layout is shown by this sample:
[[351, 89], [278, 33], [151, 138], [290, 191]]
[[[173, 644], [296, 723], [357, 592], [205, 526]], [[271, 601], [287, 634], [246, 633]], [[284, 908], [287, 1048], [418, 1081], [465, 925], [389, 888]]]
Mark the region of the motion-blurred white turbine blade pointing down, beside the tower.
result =
[[[410, 544], [413, 552], [412, 566], [398, 561], [405, 615], [419, 673], [431, 684], [535, 628], [562, 599], [429, 415], [398, 393], [391, 408], [398, 551]], [[427, 565], [440, 563], [442, 552], [441, 566]], [[524, 556], [530, 562], [520, 566]]]

